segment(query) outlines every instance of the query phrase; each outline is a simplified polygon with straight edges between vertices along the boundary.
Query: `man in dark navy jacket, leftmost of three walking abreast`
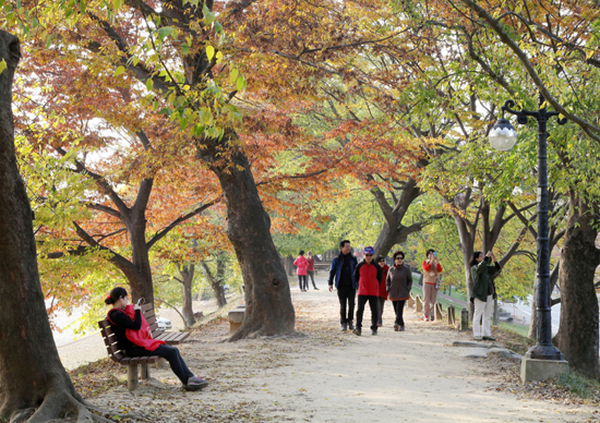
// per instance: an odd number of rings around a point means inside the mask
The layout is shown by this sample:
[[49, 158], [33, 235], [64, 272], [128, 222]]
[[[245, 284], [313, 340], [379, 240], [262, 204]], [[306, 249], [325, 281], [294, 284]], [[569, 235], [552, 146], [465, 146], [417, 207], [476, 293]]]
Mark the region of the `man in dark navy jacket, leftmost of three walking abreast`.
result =
[[[332, 267], [329, 267], [329, 292], [337, 289], [337, 298], [339, 299], [339, 323], [341, 330], [353, 330], [352, 324], [355, 317], [355, 300], [357, 295], [358, 283], [355, 279], [355, 269], [358, 265], [357, 257], [350, 251], [350, 241], [344, 240], [339, 243], [340, 253], [334, 257]], [[348, 305], [348, 306], [346, 306]]]

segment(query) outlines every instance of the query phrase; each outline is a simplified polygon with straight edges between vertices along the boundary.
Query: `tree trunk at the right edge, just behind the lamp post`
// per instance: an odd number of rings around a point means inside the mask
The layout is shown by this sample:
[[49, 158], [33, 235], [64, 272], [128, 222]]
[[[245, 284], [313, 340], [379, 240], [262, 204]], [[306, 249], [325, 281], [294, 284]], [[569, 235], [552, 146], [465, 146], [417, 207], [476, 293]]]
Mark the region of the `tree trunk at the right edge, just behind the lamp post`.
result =
[[591, 211], [584, 201], [572, 195], [559, 270], [561, 324], [555, 341], [571, 368], [599, 378], [598, 298], [593, 274], [600, 255], [595, 244], [598, 231], [592, 227], [597, 214]]

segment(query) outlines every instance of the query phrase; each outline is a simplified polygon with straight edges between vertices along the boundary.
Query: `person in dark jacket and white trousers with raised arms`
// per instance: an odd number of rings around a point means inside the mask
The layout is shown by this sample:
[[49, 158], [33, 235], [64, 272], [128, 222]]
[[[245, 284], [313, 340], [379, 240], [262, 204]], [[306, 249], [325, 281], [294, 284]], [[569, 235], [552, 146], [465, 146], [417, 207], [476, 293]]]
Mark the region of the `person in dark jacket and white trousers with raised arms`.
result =
[[[490, 263], [494, 262], [494, 265]], [[500, 273], [500, 264], [495, 261], [494, 254], [489, 251], [483, 257], [481, 251], [476, 251], [471, 258], [471, 278], [473, 290], [471, 302], [475, 303], [473, 314], [473, 339], [495, 341], [492, 337], [492, 312], [494, 300], [497, 298], [493, 278]], [[481, 317], [483, 317], [483, 334], [481, 333]], [[482, 336], [483, 335], [483, 336]]]

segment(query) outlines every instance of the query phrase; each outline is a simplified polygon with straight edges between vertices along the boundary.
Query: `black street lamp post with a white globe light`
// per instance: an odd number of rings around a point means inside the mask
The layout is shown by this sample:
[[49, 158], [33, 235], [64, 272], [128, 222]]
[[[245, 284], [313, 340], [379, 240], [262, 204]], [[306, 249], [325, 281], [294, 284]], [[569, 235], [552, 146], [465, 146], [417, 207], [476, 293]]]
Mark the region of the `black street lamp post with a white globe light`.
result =
[[[526, 358], [536, 360], [564, 360], [563, 353], [552, 345], [552, 321], [550, 307], [550, 243], [548, 239], [548, 164], [545, 125], [550, 118], [559, 112], [545, 110], [545, 99], [540, 94], [538, 111], [513, 110], [515, 101], [507, 100], [502, 106], [517, 117], [517, 122], [526, 124], [528, 118], [538, 121], [538, 289], [536, 292], [536, 313], [538, 316], [538, 343], [527, 351]], [[566, 118], [557, 119], [565, 124]], [[517, 132], [506, 119], [501, 119], [490, 131], [490, 144], [496, 149], [508, 150], [517, 140]]]

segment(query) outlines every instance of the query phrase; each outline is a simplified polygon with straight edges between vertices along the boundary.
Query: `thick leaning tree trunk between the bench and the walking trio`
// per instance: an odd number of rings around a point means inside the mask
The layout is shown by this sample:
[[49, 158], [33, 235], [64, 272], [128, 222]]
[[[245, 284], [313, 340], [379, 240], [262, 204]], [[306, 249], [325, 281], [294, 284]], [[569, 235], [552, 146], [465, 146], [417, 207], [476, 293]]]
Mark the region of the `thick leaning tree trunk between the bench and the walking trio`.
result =
[[[248, 157], [236, 134], [226, 133], [221, 143], [209, 141], [199, 148], [219, 179], [227, 205], [227, 235], [236, 250], [245, 293], [245, 318], [231, 340], [293, 333], [296, 313], [279, 254], [271, 238], [271, 218], [263, 208]], [[223, 148], [229, 160], [216, 160]]]

